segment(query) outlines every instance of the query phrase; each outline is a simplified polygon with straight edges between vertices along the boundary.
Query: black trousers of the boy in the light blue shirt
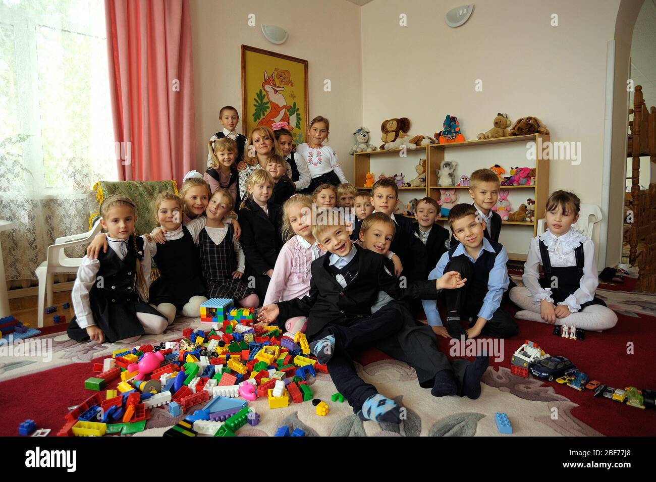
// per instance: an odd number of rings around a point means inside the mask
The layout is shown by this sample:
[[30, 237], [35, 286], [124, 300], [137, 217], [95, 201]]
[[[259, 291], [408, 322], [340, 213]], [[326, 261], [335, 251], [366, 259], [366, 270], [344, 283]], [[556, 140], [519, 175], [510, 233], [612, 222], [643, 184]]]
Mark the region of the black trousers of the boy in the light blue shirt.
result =
[[[449, 311], [459, 311], [461, 317], [472, 318], [469, 327], [476, 324], [478, 311], [480, 310], [483, 299], [473, 299], [470, 293], [471, 280], [474, 275], [474, 264], [466, 256], [456, 256], [447, 263], [444, 272], [458, 271], [462, 278], [467, 281], [462, 288], [453, 290], [443, 290], [441, 292], [447, 306], [447, 315]], [[493, 338], [510, 338], [520, 331], [516, 321], [510, 316], [508, 311], [499, 306], [494, 312], [492, 318], [487, 320], [482, 334], [492, 336]]]

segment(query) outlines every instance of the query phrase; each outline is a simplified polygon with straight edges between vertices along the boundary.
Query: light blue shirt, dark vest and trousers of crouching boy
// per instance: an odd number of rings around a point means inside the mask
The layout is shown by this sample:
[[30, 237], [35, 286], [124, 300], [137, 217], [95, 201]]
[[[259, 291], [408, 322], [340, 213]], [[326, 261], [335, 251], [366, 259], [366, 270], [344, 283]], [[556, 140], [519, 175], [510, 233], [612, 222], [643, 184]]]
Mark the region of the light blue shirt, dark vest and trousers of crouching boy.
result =
[[[458, 243], [445, 252], [428, 279], [438, 279], [448, 271], [458, 271], [467, 281], [464, 287], [444, 290], [443, 299], [449, 311], [459, 311], [461, 318], [474, 326], [479, 317], [487, 319], [482, 334], [508, 338], [519, 328], [510, 314], [501, 308], [501, 298], [508, 289], [508, 254], [499, 243], [483, 238], [478, 258], [474, 260], [464, 245]], [[440, 313], [434, 300], [423, 300], [428, 325], [441, 326]]]

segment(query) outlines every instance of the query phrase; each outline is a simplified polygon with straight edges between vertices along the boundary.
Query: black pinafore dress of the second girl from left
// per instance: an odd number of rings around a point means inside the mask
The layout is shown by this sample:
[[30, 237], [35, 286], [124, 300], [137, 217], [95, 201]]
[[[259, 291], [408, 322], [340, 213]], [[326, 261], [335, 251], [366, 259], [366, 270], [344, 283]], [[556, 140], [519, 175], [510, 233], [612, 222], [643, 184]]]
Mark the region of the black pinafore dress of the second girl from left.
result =
[[149, 243], [160, 276], [150, 285], [149, 301], [155, 306], [171, 303], [182, 310], [192, 296], [205, 296], [207, 289], [201, 276], [200, 258], [194, 238], [180, 225], [165, 233], [166, 243]]

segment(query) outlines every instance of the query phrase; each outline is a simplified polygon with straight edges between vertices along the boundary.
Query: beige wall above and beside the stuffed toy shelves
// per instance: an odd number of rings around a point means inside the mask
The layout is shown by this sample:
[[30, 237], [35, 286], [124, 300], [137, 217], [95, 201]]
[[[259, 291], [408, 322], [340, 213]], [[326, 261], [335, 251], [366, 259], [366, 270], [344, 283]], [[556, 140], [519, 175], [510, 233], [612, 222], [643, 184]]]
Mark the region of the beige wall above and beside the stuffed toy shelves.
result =
[[[552, 140], [581, 142], [581, 165], [552, 161], [550, 189], [601, 205], [606, 44], [620, 1], [479, 0], [466, 24], [448, 27], [445, 12], [463, 3], [374, 0], [362, 7], [364, 125], [377, 131], [382, 119], [407, 116], [411, 134], [433, 134], [449, 113], [475, 139], [499, 111], [512, 120], [536, 115]], [[550, 25], [554, 13], [557, 27]], [[474, 90], [476, 79], [482, 92]]]

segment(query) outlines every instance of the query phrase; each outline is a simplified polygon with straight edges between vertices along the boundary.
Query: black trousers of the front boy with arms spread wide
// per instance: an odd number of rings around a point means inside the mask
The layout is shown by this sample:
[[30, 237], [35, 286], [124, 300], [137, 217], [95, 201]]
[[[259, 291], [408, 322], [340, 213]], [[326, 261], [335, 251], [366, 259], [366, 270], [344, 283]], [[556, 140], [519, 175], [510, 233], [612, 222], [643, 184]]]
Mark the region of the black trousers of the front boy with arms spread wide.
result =
[[398, 311], [388, 305], [369, 317], [345, 325], [327, 325], [310, 338], [310, 341], [314, 341], [329, 334], [335, 336], [335, 353], [327, 363], [328, 372], [337, 391], [344, 395], [354, 411], [361, 409], [364, 401], [378, 391], [358, 376], [352, 350], [373, 346], [375, 342], [396, 334], [402, 326], [403, 319]]

